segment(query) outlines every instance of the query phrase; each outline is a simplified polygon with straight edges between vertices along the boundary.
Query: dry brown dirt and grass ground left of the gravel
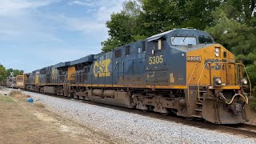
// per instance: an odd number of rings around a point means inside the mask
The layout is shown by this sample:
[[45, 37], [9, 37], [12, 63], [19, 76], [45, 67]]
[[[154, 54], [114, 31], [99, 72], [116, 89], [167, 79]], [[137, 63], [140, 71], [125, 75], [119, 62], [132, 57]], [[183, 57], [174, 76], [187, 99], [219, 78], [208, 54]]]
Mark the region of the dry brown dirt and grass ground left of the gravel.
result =
[[0, 143], [114, 143], [26, 97], [0, 95]]

